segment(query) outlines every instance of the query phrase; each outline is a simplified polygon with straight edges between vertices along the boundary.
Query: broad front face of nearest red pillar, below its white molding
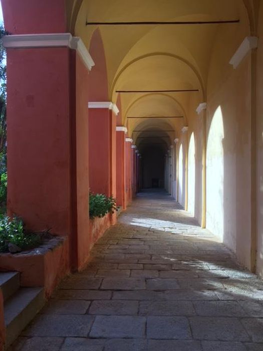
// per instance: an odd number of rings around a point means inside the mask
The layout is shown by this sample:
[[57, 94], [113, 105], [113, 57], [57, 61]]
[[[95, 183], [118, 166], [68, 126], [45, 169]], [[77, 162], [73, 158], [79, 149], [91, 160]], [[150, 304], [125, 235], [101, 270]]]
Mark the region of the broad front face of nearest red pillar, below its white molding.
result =
[[8, 211], [59, 235], [70, 234], [69, 65], [67, 48], [8, 50]]

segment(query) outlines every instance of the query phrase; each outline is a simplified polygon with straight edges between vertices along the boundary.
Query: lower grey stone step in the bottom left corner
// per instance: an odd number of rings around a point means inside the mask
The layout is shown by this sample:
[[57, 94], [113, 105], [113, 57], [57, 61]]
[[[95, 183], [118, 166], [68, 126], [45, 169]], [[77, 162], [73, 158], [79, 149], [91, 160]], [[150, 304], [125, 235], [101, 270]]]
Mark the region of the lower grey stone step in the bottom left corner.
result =
[[4, 304], [6, 325], [6, 348], [19, 336], [21, 331], [43, 308], [45, 293], [43, 288], [20, 288]]

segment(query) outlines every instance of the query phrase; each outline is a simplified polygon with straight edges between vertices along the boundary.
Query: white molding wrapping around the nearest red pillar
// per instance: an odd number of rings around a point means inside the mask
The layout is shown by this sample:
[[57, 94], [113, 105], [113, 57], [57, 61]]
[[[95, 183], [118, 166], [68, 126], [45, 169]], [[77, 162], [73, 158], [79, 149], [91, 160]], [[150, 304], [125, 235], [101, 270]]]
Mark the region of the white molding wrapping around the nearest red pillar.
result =
[[13, 49], [68, 47], [79, 53], [89, 70], [95, 65], [81, 38], [70, 33], [7, 35], [3, 37], [3, 45]]

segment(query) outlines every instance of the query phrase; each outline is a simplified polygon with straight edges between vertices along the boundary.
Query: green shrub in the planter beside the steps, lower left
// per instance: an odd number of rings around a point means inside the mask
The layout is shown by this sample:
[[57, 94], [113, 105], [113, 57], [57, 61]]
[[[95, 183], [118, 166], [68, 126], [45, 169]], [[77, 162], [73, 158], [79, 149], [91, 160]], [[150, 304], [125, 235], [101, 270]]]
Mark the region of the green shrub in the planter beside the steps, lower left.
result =
[[23, 221], [15, 217], [11, 219], [6, 215], [0, 215], [0, 252], [8, 252], [9, 244], [15, 244], [20, 250], [29, 250], [41, 244], [38, 234], [27, 234], [24, 231]]

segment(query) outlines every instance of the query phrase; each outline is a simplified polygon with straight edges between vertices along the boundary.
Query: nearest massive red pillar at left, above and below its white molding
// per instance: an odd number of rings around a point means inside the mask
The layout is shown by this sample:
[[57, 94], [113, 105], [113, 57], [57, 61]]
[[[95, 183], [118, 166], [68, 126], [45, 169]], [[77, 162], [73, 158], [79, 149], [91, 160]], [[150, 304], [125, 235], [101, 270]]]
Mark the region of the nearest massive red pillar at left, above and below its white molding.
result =
[[[3, 0], [2, 5], [6, 29], [26, 35], [19, 43], [14, 35], [6, 40], [8, 212], [21, 216], [32, 231], [69, 237], [69, 261], [76, 269], [89, 252], [84, 63], [89, 55], [77, 53], [77, 41], [72, 49], [64, 0]], [[32, 33], [33, 41], [27, 36]]]

